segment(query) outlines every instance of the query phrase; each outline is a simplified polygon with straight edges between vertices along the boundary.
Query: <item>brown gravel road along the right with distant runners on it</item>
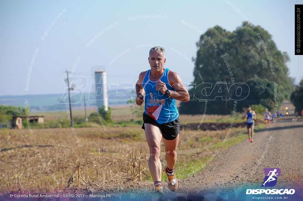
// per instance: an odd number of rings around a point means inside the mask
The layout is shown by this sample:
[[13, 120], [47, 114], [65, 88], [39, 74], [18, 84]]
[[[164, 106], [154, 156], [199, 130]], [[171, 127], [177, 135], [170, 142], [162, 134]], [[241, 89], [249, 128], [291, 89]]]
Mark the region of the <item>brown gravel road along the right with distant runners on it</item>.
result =
[[[287, 105], [290, 114], [294, 114], [292, 104], [284, 102], [283, 105]], [[211, 193], [219, 195], [226, 191], [228, 193], [221, 197], [227, 198], [228, 194], [233, 196], [245, 193], [248, 188], [260, 189], [265, 176], [263, 168], [280, 168], [281, 176], [274, 188], [295, 189], [302, 196], [303, 121], [298, 119], [293, 122], [293, 118], [295, 117], [284, 117], [283, 120], [273, 123], [269, 129], [259, 130], [255, 133], [253, 143], [249, 143], [247, 139], [221, 151], [205, 171], [183, 179], [180, 190], [184, 193], [187, 191], [191, 198], [205, 197], [208, 194], [211, 196]], [[268, 142], [270, 145], [265, 150]], [[264, 159], [258, 166], [258, 160], [263, 153]]]

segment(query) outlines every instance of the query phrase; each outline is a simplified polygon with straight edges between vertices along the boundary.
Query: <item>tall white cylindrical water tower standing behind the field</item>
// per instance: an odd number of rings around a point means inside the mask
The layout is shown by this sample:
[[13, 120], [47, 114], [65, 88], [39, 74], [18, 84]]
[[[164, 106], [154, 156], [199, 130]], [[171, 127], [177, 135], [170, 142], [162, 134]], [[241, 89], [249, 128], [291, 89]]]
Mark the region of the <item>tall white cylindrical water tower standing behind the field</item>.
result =
[[93, 67], [95, 71], [95, 88], [96, 88], [96, 105], [97, 107], [105, 106], [105, 111], [108, 111], [108, 99], [107, 99], [107, 82], [106, 71], [104, 66]]

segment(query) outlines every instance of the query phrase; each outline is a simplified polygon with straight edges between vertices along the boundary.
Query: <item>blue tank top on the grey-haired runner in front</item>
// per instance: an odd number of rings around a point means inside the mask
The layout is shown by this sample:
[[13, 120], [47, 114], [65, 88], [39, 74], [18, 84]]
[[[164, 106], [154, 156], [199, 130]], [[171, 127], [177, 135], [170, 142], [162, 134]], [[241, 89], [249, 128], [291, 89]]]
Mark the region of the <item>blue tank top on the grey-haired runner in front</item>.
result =
[[[148, 70], [146, 72], [142, 83], [145, 91], [145, 114], [155, 119], [158, 124], [176, 120], [179, 113], [175, 105], [175, 99], [170, 98], [161, 91], [156, 91], [156, 82], [149, 79], [150, 71], [151, 70]], [[175, 91], [168, 82], [168, 71], [169, 69], [165, 68], [160, 80], [165, 83], [169, 90]]]

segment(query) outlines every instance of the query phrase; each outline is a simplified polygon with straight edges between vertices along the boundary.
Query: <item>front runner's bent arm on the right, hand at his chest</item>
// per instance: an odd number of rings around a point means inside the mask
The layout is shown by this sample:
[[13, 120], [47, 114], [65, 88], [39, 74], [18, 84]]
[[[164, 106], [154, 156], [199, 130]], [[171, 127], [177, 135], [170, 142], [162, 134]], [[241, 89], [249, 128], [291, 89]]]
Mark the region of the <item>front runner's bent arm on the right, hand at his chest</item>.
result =
[[[168, 81], [169, 84], [176, 90], [171, 91], [169, 90], [170, 94], [167, 94], [169, 97], [174, 98], [177, 101], [183, 101], [188, 102], [190, 97], [187, 89], [184, 87], [181, 81], [181, 77], [175, 73], [175, 72], [169, 72], [168, 74]], [[166, 84], [162, 82], [161, 80], [158, 80], [157, 82], [156, 90], [160, 90], [163, 94], [168, 90], [166, 87]]]

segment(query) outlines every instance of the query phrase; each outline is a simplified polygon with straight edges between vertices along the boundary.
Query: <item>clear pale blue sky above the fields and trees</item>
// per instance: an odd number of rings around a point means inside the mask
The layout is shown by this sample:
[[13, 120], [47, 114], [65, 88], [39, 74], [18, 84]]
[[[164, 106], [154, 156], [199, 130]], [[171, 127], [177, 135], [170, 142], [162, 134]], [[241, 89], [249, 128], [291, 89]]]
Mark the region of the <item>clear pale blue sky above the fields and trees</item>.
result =
[[[302, 58], [295, 56], [294, 7], [302, 1], [240, 1], [232, 0], [254, 25], [267, 30], [280, 51], [288, 52], [287, 63], [295, 83], [303, 78]], [[66, 8], [66, 12], [62, 12]], [[57, 15], [60, 18], [55, 21]], [[138, 15], [162, 15], [163, 18], [140, 18]], [[164, 19], [164, 15], [168, 18]], [[166, 68], [177, 72], [184, 83], [193, 81], [193, 66], [171, 48], [188, 58], [196, 56], [201, 31], [219, 25], [234, 31], [244, 18], [224, 0], [216, 1], [1, 1], [0, 2], [0, 95], [60, 94], [64, 91], [65, 69], [72, 70], [80, 57], [74, 76], [93, 83], [93, 66], [105, 66], [108, 83], [135, 83], [141, 71], [148, 70], [151, 47], [161, 44], [166, 50]], [[41, 36], [51, 25], [44, 40]], [[110, 25], [118, 24], [105, 31]], [[88, 43], [100, 31], [93, 44]], [[28, 66], [35, 49], [34, 61], [25, 91]], [[108, 65], [123, 51], [125, 54]], [[203, 76], [203, 75], [202, 75]], [[206, 76], [206, 75], [205, 75]], [[89, 87], [88, 90], [89, 91]]]

